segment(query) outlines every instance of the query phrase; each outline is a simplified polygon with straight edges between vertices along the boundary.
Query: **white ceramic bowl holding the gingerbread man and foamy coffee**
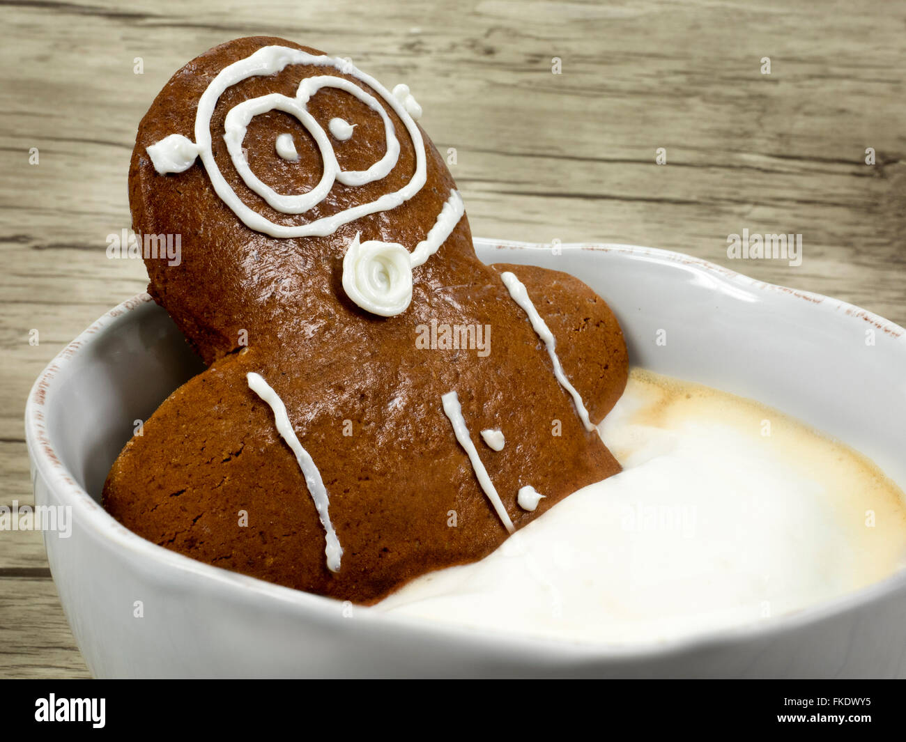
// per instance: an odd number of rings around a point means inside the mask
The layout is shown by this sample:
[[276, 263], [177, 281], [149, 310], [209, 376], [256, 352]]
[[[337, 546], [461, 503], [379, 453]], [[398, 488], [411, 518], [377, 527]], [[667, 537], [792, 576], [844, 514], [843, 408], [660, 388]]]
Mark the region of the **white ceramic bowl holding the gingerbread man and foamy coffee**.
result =
[[[486, 262], [581, 277], [606, 298], [631, 362], [754, 398], [874, 459], [906, 487], [901, 327], [686, 255], [620, 245], [476, 240]], [[668, 330], [659, 346], [655, 332]], [[876, 344], [866, 346], [865, 331]], [[792, 615], [691, 640], [613, 647], [539, 641], [353, 608], [202, 564], [99, 505], [132, 420], [201, 366], [145, 294], [73, 341], [25, 410], [34, 496], [72, 506], [45, 535], [63, 608], [100, 677], [888, 677], [906, 674], [906, 573]], [[795, 569], [795, 564], [790, 565]], [[140, 601], [143, 617], [137, 618]], [[351, 615], [350, 615], [351, 613]]]

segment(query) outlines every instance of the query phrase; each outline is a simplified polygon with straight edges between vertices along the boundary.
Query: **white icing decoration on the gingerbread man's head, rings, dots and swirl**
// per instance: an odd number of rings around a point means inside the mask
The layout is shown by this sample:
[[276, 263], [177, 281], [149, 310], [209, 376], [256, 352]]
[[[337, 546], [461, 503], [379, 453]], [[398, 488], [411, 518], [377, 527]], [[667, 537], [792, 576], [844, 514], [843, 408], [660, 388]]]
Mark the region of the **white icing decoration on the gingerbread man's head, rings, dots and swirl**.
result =
[[[242, 82], [250, 77], [281, 72], [290, 64], [333, 67], [343, 74], [350, 75], [364, 82], [378, 93], [383, 104], [389, 106], [399, 116], [409, 132], [412, 147], [415, 150], [415, 172], [406, 185], [373, 201], [346, 208], [329, 217], [321, 217], [308, 224], [291, 226], [272, 222], [270, 219], [258, 214], [253, 208], [248, 207], [239, 198], [236, 191], [229, 186], [223, 173], [217, 167], [211, 146], [210, 123], [217, 101], [228, 88], [236, 85], [237, 82]], [[386, 152], [370, 168], [365, 170], [343, 170], [340, 168], [330, 137], [323, 130], [321, 124], [307, 110], [309, 99], [322, 88], [336, 88], [347, 92], [368, 106], [371, 111], [381, 116], [386, 137]], [[322, 203], [324, 198], [330, 193], [334, 183], [339, 182], [344, 186], [362, 186], [386, 178], [396, 167], [400, 158], [400, 142], [397, 140], [393, 122], [390, 120], [390, 116], [383, 104], [371, 93], [365, 92], [355, 83], [338, 75], [327, 74], [308, 77], [299, 83], [293, 98], [279, 93], [271, 93], [242, 101], [230, 109], [224, 122], [226, 149], [229, 152], [233, 166], [236, 168], [236, 172], [243, 179], [246, 186], [263, 198], [270, 207], [282, 214], [303, 214]], [[314, 188], [304, 194], [289, 195], [277, 193], [273, 188], [266, 186], [260, 178], [257, 178], [248, 166], [242, 151], [242, 143], [246, 138], [248, 124], [255, 116], [268, 111], [284, 111], [284, 113], [293, 116], [312, 135], [315, 144], [320, 150], [323, 162], [322, 178]], [[400, 206], [400, 204], [415, 196], [425, 185], [427, 180], [427, 155], [421, 131], [415, 123], [415, 119], [419, 118], [420, 115], [421, 107], [406, 85], [397, 85], [394, 91], [390, 93], [371, 75], [361, 72], [352, 63], [345, 60], [323, 54], [313, 55], [284, 46], [265, 46], [245, 59], [227, 65], [207, 86], [207, 90], [202, 93], [201, 98], [198, 100], [198, 111], [195, 118], [195, 142], [188, 140], [187, 137], [182, 135], [171, 134], [151, 145], [147, 148], [147, 152], [154, 168], [161, 175], [184, 172], [191, 167], [197, 157], [200, 158], [205, 166], [208, 178], [211, 180], [211, 185], [217, 192], [217, 196], [250, 229], [274, 237], [328, 236], [332, 235], [344, 224], [349, 224], [370, 214], [388, 211], [391, 208]], [[335, 140], [345, 141], [352, 137], [354, 126], [354, 124], [350, 124], [346, 120], [334, 118], [328, 124], [328, 129], [330, 129], [331, 135]], [[289, 161], [297, 161], [299, 159], [290, 135], [281, 134], [277, 138], [275, 146], [280, 157]], [[422, 265], [430, 255], [437, 252], [439, 246], [447, 239], [464, 213], [465, 209], [462, 205], [462, 199], [459, 198], [456, 191], [451, 191], [448, 201], [438, 215], [436, 224], [431, 228], [428, 236], [413, 251], [410, 257], [410, 266]], [[371, 245], [371, 242], [366, 242], [358, 246], [354, 251], [352, 248], [348, 250], [343, 262], [343, 285], [346, 287], [347, 293], [350, 291], [349, 286], [352, 286], [352, 293], [349, 294], [350, 298], [356, 304], [359, 304], [362, 309], [372, 313], [383, 314], [384, 316], [390, 316], [390, 314], [386, 314], [389, 311], [389, 307], [393, 308], [393, 314], [398, 314], [409, 306], [409, 301], [400, 301], [401, 297], [407, 295], [406, 287], [403, 285], [407, 281], [407, 274], [402, 269], [401, 260], [398, 257], [393, 257], [391, 260], [386, 258], [386, 255], [395, 255], [393, 245], [390, 243], [390, 247], [378, 250], [376, 246]], [[362, 252], [364, 246], [369, 247]], [[384, 275], [381, 274], [381, 271], [376, 274], [371, 270], [359, 270], [357, 266], [361, 263], [362, 255], [369, 255], [371, 258], [383, 255], [377, 262], [383, 266], [381, 270], [386, 274], [387, 280], [381, 278], [381, 275]], [[347, 271], [345, 265], [346, 259], [351, 260], [353, 264], [349, 271]], [[389, 266], [392, 266], [392, 270], [390, 270]], [[347, 281], [347, 275], [350, 276], [349, 281]], [[408, 295], [411, 297], [411, 275], [408, 275], [408, 281], [410, 284]], [[379, 311], [375, 311], [375, 307]]]

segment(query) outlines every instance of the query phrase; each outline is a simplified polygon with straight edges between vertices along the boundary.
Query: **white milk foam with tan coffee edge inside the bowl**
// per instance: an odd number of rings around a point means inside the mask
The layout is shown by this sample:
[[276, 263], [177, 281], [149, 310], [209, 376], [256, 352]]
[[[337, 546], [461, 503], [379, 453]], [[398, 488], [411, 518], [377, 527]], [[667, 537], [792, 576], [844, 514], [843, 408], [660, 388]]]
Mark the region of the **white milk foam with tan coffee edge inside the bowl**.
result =
[[621, 474], [375, 610], [572, 641], [666, 641], [766, 621], [904, 564], [899, 487], [776, 410], [633, 370], [600, 430]]

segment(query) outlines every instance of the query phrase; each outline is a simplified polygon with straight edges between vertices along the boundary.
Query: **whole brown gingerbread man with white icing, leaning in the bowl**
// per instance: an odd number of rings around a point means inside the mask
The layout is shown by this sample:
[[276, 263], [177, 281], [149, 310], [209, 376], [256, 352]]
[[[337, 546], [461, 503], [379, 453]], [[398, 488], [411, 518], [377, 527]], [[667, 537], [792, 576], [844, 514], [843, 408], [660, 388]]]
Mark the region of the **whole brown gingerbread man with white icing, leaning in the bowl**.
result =
[[[619, 464], [619, 324], [572, 276], [484, 265], [405, 87], [275, 38], [188, 63], [141, 121], [149, 292], [209, 363], [104, 505], [221, 567], [374, 602], [474, 561]], [[238, 352], [237, 352], [238, 351]], [[244, 515], [243, 515], [244, 514]]]

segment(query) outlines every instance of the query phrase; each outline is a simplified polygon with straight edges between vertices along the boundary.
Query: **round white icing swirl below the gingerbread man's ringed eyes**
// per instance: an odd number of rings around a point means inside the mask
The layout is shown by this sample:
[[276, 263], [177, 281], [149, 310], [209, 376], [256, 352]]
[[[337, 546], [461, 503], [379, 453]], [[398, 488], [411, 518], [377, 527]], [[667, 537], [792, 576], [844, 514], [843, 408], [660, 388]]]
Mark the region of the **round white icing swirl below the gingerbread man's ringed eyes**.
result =
[[412, 265], [409, 251], [395, 242], [359, 242], [342, 259], [342, 287], [366, 312], [392, 317], [405, 312], [412, 301]]

